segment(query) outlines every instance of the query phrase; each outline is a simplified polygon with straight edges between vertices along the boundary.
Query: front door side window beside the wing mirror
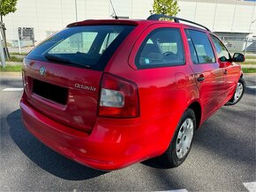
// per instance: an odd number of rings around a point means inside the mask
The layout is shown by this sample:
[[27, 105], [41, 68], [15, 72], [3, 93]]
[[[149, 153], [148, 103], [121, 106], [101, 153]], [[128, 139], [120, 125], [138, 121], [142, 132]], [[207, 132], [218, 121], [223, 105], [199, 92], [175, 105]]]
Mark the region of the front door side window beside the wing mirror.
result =
[[218, 58], [221, 62], [229, 62], [230, 61], [230, 53], [227, 48], [223, 45], [222, 41], [215, 37], [215, 35], [210, 35], [216, 48], [216, 52]]

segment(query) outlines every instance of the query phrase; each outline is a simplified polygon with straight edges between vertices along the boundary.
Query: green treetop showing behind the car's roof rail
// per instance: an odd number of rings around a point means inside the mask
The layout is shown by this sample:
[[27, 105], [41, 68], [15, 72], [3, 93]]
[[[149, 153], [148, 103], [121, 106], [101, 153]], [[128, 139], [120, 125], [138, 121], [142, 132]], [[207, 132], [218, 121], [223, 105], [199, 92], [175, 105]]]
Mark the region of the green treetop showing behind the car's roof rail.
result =
[[150, 11], [150, 14], [175, 16], [179, 11], [177, 0], [154, 0], [153, 10]]

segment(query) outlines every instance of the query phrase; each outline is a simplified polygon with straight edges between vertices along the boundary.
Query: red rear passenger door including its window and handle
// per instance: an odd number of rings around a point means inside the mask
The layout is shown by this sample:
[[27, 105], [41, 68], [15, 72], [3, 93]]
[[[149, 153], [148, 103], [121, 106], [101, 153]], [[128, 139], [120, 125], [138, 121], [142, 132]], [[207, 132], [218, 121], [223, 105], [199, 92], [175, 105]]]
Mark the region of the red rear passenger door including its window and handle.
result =
[[203, 119], [215, 111], [222, 101], [223, 72], [216, 62], [207, 33], [185, 30], [191, 52], [191, 66], [200, 92]]

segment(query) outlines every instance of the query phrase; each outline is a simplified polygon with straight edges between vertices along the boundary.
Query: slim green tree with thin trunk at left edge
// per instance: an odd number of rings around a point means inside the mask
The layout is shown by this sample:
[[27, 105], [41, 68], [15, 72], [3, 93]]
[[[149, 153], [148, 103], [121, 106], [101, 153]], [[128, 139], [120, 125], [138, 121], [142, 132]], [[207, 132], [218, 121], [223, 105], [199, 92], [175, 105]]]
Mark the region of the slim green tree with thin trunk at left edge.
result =
[[17, 1], [18, 0], [0, 0], [0, 17], [1, 17], [0, 31], [4, 39], [4, 54], [6, 55], [7, 58], [9, 58], [10, 55], [7, 49], [6, 35], [5, 35], [6, 28], [4, 26], [3, 17], [8, 15], [10, 12], [16, 11]]

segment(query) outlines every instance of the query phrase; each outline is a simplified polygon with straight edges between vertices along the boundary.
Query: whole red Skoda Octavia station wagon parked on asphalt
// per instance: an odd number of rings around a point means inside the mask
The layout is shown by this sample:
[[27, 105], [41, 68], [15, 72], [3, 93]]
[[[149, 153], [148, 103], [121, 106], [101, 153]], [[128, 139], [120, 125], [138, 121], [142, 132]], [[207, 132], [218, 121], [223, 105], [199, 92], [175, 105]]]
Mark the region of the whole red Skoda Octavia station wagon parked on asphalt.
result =
[[72, 23], [26, 55], [22, 119], [42, 143], [95, 169], [154, 157], [179, 166], [195, 130], [242, 98], [244, 61], [183, 18]]

